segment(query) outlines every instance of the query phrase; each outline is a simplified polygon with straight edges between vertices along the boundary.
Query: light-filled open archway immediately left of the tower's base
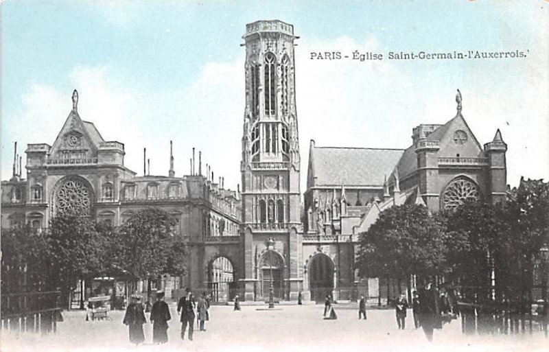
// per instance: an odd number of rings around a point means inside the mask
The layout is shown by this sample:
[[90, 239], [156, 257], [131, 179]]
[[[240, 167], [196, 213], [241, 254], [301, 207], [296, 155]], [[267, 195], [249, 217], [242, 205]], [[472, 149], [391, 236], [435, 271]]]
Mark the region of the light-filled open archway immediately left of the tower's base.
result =
[[214, 302], [228, 302], [235, 281], [233, 263], [227, 257], [217, 257], [208, 268], [208, 289]]

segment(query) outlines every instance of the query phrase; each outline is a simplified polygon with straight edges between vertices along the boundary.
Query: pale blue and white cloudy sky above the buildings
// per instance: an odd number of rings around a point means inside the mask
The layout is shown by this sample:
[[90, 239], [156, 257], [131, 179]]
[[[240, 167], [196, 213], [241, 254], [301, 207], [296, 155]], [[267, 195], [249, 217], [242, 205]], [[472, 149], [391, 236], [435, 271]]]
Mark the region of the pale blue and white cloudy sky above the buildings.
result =
[[[240, 182], [246, 23], [292, 23], [305, 179], [317, 145], [406, 148], [412, 128], [455, 115], [455, 92], [480, 143], [509, 144], [508, 182], [549, 178], [548, 1], [4, 1], [2, 178], [12, 143], [54, 142], [80, 93], [79, 113], [126, 165], [176, 173], [202, 150], [215, 176]], [[522, 60], [341, 62], [311, 51], [528, 50]], [[23, 148], [19, 148], [23, 152]], [[303, 184], [303, 183], [302, 183]], [[304, 190], [304, 189], [303, 189]]]

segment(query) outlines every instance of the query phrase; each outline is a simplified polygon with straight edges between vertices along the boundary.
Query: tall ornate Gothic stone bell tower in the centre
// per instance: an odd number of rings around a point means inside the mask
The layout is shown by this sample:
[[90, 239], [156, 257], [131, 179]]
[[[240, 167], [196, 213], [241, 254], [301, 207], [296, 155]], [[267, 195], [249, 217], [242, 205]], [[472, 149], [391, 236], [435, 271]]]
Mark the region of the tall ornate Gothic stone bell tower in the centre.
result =
[[294, 27], [246, 25], [242, 137], [244, 299], [296, 299], [302, 290], [301, 193]]

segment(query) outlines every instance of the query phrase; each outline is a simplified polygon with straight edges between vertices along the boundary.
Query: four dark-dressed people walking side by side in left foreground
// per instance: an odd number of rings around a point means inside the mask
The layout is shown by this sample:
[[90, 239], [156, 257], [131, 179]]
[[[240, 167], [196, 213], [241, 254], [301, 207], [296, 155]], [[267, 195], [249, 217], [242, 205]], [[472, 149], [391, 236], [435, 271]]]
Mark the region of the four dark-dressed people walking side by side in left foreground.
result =
[[[180, 314], [182, 340], [185, 340], [185, 331], [187, 331], [187, 327], [189, 328], [187, 337], [189, 340], [193, 340], [195, 320], [198, 323], [200, 331], [206, 331], [205, 322], [209, 320], [209, 307], [209, 296], [205, 292], [195, 301], [191, 290], [189, 290], [189, 288], [185, 290], [185, 296], [181, 297], [177, 304], [177, 312]], [[156, 302], [152, 305], [150, 311], [153, 343], [164, 344], [167, 342], [167, 322], [171, 318], [170, 307], [168, 307], [167, 303], [164, 301], [164, 292], [157, 292]], [[145, 312], [143, 305], [141, 304], [141, 296], [137, 294], [131, 296], [131, 301], [126, 308], [123, 322], [125, 325], [128, 325], [130, 342], [141, 344], [145, 341], [143, 324], [145, 324], [147, 320], [145, 319]]]

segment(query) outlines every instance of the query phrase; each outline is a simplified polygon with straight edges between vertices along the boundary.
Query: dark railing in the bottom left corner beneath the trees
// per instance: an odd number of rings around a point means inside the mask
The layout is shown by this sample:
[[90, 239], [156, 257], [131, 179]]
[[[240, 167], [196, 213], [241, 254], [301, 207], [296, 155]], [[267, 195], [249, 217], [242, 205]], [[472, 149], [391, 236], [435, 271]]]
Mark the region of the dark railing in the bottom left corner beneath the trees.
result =
[[2, 294], [2, 329], [56, 332], [57, 322], [62, 321], [59, 298], [59, 291]]

